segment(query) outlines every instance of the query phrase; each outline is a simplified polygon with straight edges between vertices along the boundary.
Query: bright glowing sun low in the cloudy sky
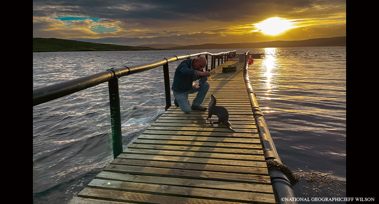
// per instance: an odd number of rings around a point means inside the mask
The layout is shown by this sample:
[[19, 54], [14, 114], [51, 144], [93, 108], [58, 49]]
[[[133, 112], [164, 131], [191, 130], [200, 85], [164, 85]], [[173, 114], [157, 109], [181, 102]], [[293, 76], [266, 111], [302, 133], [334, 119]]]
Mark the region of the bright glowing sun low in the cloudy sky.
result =
[[280, 17], [272, 17], [253, 25], [255, 25], [255, 27], [258, 28], [258, 30], [263, 34], [279, 35], [289, 29], [297, 27], [292, 23], [292, 21], [293, 20], [288, 20]]

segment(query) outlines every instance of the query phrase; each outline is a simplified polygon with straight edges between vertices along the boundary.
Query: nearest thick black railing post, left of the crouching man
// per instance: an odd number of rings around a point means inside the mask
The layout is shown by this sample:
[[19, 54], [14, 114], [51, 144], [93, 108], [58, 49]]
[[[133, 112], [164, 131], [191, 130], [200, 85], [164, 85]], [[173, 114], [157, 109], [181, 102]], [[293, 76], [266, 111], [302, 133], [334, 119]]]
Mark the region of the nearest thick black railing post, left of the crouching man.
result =
[[113, 146], [113, 158], [116, 159], [122, 152], [122, 134], [121, 134], [121, 112], [120, 112], [120, 95], [118, 77], [108, 81], [109, 88], [109, 105], [111, 108], [111, 127]]

